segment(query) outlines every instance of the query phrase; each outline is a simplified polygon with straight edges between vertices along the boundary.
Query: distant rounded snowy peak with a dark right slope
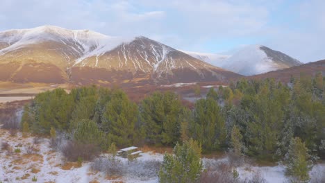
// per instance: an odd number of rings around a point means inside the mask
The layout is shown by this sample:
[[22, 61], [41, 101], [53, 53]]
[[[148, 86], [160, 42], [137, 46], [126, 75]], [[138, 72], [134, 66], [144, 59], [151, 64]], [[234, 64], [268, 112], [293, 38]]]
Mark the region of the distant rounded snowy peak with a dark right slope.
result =
[[244, 76], [251, 76], [300, 64], [299, 60], [280, 51], [269, 49], [267, 46], [250, 45], [225, 60], [222, 68]]

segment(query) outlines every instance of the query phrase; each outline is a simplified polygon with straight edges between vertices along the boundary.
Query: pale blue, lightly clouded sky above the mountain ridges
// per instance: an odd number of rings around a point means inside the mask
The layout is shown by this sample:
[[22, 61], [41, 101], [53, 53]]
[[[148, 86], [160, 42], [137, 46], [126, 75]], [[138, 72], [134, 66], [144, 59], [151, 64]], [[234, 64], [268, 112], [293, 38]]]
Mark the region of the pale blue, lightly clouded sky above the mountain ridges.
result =
[[314, 62], [325, 59], [324, 7], [324, 0], [1, 0], [0, 31], [53, 25], [204, 53], [263, 44]]

